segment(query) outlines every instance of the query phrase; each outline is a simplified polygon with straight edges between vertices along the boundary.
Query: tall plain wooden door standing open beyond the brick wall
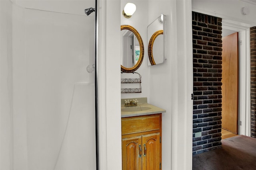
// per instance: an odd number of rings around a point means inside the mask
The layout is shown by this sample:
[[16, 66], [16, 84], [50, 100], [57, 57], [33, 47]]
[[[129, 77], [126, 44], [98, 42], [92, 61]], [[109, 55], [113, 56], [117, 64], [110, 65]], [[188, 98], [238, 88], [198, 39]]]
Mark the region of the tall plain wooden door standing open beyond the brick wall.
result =
[[238, 32], [222, 37], [222, 128], [238, 134]]

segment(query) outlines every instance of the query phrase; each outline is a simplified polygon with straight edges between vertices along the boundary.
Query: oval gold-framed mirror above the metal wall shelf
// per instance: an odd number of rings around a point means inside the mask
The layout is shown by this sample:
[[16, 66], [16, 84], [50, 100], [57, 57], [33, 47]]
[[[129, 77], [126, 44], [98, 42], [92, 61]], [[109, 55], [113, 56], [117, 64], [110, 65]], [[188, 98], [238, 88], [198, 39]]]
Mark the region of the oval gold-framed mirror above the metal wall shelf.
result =
[[121, 37], [121, 71], [134, 72], [140, 67], [144, 57], [142, 38], [138, 31], [130, 25], [121, 25]]

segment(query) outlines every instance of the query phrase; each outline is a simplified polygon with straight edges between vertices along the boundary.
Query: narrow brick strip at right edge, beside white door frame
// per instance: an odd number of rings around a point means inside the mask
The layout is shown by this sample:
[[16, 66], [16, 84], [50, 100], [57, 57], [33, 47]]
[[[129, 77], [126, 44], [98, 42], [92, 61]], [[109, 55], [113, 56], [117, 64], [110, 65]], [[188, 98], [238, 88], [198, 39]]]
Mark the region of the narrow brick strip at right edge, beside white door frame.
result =
[[251, 137], [256, 137], [256, 27], [250, 28], [251, 45]]

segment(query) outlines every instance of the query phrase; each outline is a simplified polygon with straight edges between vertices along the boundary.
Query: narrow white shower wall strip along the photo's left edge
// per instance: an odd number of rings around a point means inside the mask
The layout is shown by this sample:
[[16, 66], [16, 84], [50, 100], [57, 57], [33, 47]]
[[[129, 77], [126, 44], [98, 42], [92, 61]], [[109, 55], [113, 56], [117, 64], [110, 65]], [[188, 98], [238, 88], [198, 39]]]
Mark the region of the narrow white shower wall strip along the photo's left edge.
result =
[[0, 1], [0, 169], [13, 169], [12, 3]]

